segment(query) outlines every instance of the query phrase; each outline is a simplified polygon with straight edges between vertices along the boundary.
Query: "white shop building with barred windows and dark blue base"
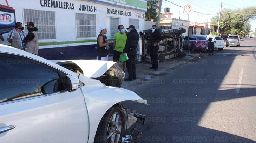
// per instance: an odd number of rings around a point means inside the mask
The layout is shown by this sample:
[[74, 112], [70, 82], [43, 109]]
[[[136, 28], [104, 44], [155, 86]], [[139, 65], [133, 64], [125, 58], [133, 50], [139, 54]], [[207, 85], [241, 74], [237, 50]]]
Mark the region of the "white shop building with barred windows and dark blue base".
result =
[[107, 27], [108, 39], [120, 24], [144, 30], [147, 11], [147, 0], [0, 0], [0, 4], [15, 9], [16, 22], [23, 23], [25, 33], [26, 23], [35, 23], [39, 56], [51, 60], [95, 59], [101, 26]]

